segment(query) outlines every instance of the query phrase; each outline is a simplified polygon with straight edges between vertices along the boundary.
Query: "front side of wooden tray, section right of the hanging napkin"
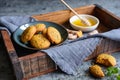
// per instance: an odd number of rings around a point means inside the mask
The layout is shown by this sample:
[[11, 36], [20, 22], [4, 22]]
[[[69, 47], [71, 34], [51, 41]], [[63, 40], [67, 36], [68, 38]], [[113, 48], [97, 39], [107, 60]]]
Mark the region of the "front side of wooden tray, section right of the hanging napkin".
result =
[[101, 42], [99, 43], [99, 45], [94, 50], [94, 52], [91, 55], [89, 55], [85, 59], [85, 61], [95, 58], [100, 53], [106, 52], [106, 53], [111, 54], [117, 51], [120, 51], [120, 42], [103, 38]]

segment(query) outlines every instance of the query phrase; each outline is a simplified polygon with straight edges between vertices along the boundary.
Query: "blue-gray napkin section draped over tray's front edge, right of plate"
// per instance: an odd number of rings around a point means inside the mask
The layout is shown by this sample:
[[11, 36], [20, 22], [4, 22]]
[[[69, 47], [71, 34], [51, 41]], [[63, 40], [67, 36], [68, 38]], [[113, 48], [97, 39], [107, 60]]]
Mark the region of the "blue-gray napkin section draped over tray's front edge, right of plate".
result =
[[92, 36], [85, 36], [62, 46], [43, 51], [46, 52], [64, 72], [76, 75], [78, 66], [96, 49], [96, 46], [101, 42], [103, 37], [120, 41], [119, 33], [120, 29], [114, 29]]

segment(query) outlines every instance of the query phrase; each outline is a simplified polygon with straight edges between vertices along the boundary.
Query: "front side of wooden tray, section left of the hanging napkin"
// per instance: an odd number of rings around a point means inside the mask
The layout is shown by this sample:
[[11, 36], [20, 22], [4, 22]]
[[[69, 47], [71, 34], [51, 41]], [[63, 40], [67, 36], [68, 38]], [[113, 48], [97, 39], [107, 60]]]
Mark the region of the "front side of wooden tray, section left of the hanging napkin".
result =
[[52, 72], [57, 69], [51, 58], [42, 52], [20, 57], [19, 60], [25, 79]]

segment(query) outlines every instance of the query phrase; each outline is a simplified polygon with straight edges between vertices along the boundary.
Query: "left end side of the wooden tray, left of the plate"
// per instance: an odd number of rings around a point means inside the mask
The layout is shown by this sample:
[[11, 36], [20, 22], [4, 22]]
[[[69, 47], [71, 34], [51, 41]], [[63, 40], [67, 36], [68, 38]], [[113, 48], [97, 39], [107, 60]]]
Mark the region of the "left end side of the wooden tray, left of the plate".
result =
[[14, 68], [14, 73], [16, 75], [16, 79], [20, 80], [23, 78], [23, 72], [22, 72], [22, 69], [20, 67], [20, 62], [19, 62], [17, 53], [14, 49], [14, 46], [12, 44], [12, 41], [10, 39], [10, 36], [9, 36], [8, 32], [5, 30], [2, 30], [1, 34], [2, 34], [3, 41], [4, 41], [4, 45], [6, 47], [6, 51], [7, 51], [8, 55], [10, 57], [10, 60], [12, 62], [12, 65]]

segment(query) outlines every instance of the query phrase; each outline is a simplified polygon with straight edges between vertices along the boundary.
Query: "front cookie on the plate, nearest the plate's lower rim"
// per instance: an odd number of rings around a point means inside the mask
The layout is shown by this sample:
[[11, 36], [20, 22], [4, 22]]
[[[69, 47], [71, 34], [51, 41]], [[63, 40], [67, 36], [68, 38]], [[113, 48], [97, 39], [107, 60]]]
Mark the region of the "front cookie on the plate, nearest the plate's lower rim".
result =
[[31, 38], [30, 43], [33, 47], [37, 49], [45, 49], [50, 46], [49, 40], [45, 38], [42, 34], [35, 34]]

